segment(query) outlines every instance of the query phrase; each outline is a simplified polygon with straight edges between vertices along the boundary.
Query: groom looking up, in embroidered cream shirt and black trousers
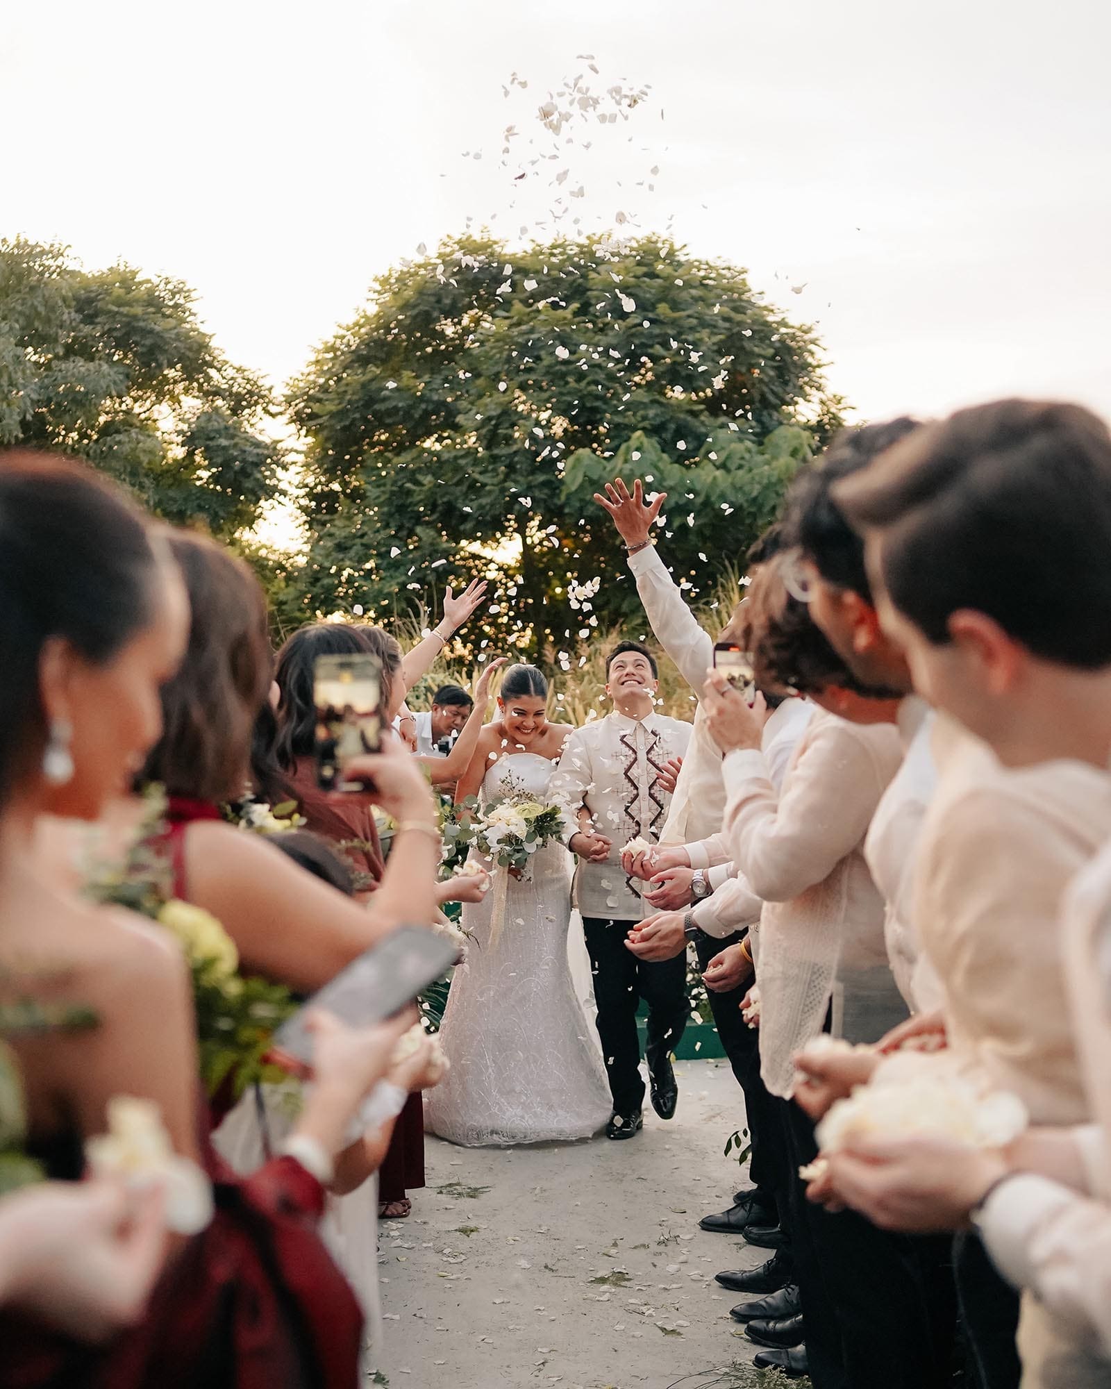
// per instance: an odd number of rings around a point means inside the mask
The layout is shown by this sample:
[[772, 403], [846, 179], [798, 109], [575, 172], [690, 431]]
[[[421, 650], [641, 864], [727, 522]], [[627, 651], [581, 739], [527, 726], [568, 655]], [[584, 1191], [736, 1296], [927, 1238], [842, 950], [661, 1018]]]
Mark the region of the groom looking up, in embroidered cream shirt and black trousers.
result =
[[647, 1061], [651, 1103], [662, 1120], [679, 1097], [669, 1053], [687, 1017], [686, 951], [658, 963], [637, 960], [625, 946], [632, 922], [651, 914], [644, 883], [621, 867], [621, 850], [640, 836], [655, 843], [667, 820], [671, 792], [667, 764], [682, 757], [690, 725], [655, 713], [655, 657], [636, 642], [622, 642], [605, 663], [605, 693], [612, 713], [576, 728], [564, 743], [551, 793], [568, 817], [567, 847], [578, 856], [575, 900], [582, 911], [586, 949], [594, 974], [597, 1028], [614, 1113], [612, 1139], [643, 1126], [644, 1082], [636, 1010], [649, 1004]]

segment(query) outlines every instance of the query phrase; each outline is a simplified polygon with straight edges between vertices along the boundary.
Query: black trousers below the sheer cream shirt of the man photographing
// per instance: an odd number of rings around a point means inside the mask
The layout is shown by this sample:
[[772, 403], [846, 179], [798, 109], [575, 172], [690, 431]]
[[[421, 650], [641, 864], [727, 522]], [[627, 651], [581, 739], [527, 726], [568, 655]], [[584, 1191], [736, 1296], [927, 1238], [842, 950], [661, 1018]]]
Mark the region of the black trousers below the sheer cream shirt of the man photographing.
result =
[[792, 1253], [814, 1389], [942, 1389], [947, 1356], [937, 1353], [914, 1242], [855, 1211], [832, 1215], [808, 1201], [796, 1174], [817, 1156], [814, 1125], [797, 1104], [776, 1104], [792, 1164]]

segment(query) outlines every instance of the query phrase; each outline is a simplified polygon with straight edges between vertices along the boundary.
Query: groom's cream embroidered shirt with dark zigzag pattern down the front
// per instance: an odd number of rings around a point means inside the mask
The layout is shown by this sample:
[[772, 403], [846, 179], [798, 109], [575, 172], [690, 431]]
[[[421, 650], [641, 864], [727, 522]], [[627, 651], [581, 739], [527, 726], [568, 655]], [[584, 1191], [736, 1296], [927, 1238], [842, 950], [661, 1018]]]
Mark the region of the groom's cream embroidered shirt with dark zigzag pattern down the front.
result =
[[686, 753], [690, 724], [662, 714], [626, 718], [614, 710], [594, 724], [576, 728], [564, 743], [550, 795], [578, 832], [579, 810], [586, 807], [594, 828], [611, 842], [603, 864], [579, 860], [575, 901], [585, 917], [611, 921], [643, 921], [649, 915], [644, 883], [625, 875], [621, 850], [640, 835], [657, 843], [667, 820], [669, 796], [657, 778], [672, 758]]

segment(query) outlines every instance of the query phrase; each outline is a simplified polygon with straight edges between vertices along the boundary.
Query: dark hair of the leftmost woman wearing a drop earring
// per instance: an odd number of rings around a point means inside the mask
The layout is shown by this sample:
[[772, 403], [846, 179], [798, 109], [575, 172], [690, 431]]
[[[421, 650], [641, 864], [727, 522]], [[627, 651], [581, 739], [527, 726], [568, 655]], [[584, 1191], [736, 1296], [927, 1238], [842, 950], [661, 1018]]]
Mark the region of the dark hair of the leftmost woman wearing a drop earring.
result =
[[107, 665], [154, 614], [160, 556], [147, 519], [89, 468], [49, 453], [0, 453], [0, 796], [47, 739], [46, 643]]

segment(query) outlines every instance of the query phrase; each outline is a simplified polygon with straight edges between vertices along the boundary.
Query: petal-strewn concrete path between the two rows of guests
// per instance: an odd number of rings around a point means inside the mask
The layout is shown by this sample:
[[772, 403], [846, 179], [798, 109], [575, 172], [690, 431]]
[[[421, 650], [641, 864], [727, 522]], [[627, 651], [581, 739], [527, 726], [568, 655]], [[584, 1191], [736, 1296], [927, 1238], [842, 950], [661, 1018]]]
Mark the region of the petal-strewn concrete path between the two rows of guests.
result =
[[381, 1235], [392, 1389], [783, 1385], [714, 1282], [768, 1254], [697, 1228], [747, 1185], [725, 1140], [743, 1100], [724, 1061], [680, 1061], [679, 1110], [625, 1143], [458, 1149], [428, 1139], [428, 1189]]

